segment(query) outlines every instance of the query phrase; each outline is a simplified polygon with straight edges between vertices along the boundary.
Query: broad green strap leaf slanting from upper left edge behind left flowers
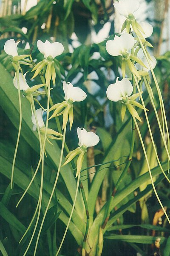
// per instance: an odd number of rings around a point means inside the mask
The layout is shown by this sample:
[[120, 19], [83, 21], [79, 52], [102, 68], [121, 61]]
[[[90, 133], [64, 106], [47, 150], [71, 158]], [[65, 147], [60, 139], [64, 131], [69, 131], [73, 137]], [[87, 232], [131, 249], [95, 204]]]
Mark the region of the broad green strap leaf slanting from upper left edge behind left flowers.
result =
[[[18, 128], [19, 123], [19, 105], [17, 101], [17, 90], [13, 85], [13, 79], [8, 71], [0, 64], [0, 106], [8, 115], [11, 122], [16, 128]], [[23, 110], [23, 127], [21, 129], [21, 135], [25, 138], [27, 143], [37, 152], [39, 152], [38, 136], [32, 131], [31, 122], [31, 110], [29, 102], [26, 98], [22, 98], [22, 110]], [[57, 143], [53, 142], [53, 145], [46, 145], [47, 158], [45, 161], [48, 164], [52, 164], [54, 169], [57, 170], [60, 156], [60, 148]], [[63, 159], [64, 163], [64, 159]], [[74, 200], [74, 195], [76, 191], [76, 180], [74, 178], [74, 172], [69, 168], [69, 166], [64, 166], [61, 170], [62, 178], [65, 182], [65, 186]], [[75, 209], [79, 214], [82, 214], [82, 209], [84, 209], [83, 201], [80, 192], [77, 195], [77, 204]]]

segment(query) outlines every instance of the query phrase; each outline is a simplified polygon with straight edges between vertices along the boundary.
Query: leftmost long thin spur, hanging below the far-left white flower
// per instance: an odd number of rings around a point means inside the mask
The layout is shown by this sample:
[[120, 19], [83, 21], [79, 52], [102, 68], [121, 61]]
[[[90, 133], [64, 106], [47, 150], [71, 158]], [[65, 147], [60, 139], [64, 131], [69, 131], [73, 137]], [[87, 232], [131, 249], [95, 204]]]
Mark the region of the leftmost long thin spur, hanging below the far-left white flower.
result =
[[13, 162], [12, 162], [11, 189], [12, 189], [12, 185], [13, 185], [14, 166], [15, 166], [15, 160], [16, 160], [16, 156], [17, 156], [18, 144], [19, 144], [20, 133], [21, 133], [21, 125], [22, 125], [22, 106], [21, 106], [20, 81], [19, 81], [19, 62], [17, 63], [16, 72], [17, 72], [18, 100], [19, 100], [19, 109], [20, 109], [20, 123], [19, 123], [19, 128], [18, 128], [17, 143], [16, 143], [15, 151], [14, 151], [14, 158], [13, 158]]

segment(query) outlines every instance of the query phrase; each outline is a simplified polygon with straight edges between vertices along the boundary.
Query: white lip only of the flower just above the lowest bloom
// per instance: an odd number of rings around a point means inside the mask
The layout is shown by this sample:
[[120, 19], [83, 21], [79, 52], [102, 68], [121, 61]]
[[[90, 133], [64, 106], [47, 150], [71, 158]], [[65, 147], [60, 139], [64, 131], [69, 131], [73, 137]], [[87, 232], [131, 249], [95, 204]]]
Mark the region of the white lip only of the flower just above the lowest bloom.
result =
[[87, 94], [79, 87], [74, 87], [70, 82], [63, 81], [64, 99], [70, 104], [72, 102], [81, 102], [86, 99]]

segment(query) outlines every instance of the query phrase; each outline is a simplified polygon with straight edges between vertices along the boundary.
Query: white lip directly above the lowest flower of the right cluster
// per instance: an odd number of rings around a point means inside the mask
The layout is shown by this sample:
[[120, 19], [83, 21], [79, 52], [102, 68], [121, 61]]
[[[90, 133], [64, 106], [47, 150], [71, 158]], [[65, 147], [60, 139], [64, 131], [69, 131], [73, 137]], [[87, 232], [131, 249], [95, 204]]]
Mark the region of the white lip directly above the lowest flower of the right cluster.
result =
[[135, 40], [132, 35], [124, 33], [120, 37], [115, 35], [114, 40], [108, 40], [106, 42], [106, 50], [112, 56], [119, 56], [132, 49], [135, 44]]

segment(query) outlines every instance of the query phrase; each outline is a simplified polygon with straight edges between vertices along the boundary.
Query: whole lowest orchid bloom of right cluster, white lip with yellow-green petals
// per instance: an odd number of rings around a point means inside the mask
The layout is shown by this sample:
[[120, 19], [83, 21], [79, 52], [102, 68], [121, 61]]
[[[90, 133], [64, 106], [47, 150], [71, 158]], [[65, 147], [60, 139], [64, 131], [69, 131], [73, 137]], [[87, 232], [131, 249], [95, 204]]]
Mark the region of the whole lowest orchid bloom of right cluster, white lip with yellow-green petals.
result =
[[127, 78], [124, 78], [121, 81], [119, 81], [117, 78], [116, 83], [110, 84], [108, 86], [106, 94], [108, 99], [110, 99], [113, 102], [117, 102], [119, 100], [122, 101], [122, 111], [121, 111], [122, 121], [125, 117], [126, 108], [127, 108], [132, 116], [134, 116], [136, 119], [142, 122], [141, 118], [138, 115], [138, 112], [133, 106], [136, 106], [142, 109], [144, 108], [139, 102], [135, 101], [135, 99], [139, 97], [139, 93], [135, 93], [132, 96], [130, 96], [132, 92], [133, 92], [133, 86]]

